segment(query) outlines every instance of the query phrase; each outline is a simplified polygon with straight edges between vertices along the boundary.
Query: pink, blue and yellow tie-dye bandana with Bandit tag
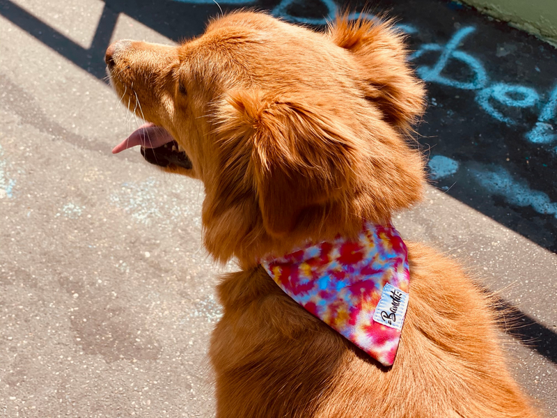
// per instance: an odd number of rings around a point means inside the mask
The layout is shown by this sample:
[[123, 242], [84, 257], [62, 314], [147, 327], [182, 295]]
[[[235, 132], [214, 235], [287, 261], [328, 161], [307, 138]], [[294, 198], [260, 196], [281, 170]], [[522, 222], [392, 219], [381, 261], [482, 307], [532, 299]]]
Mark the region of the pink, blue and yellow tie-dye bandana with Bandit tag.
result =
[[391, 366], [408, 305], [408, 252], [393, 226], [366, 223], [261, 263], [285, 293], [384, 366]]

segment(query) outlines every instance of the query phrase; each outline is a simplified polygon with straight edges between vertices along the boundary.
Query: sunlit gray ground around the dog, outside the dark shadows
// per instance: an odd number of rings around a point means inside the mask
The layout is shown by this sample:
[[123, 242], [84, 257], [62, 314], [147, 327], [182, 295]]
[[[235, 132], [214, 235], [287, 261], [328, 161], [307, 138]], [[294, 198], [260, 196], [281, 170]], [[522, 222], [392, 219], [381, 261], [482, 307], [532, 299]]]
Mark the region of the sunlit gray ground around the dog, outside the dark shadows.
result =
[[[103, 6], [17, 4], [84, 47]], [[125, 15], [119, 38], [169, 42]], [[234, 267], [201, 247], [201, 184], [111, 155], [139, 121], [3, 17], [0, 121], [0, 417], [211, 417], [214, 286]], [[395, 224], [526, 314], [512, 369], [557, 417], [556, 254], [434, 188]]]

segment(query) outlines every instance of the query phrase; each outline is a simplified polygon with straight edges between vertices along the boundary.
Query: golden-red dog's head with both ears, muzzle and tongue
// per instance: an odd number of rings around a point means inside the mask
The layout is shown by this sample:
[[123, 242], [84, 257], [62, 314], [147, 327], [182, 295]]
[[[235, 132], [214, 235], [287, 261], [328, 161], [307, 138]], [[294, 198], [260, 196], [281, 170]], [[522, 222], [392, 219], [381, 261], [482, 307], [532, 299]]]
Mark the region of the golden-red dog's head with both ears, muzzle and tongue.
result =
[[114, 88], [150, 123], [128, 146], [202, 180], [207, 249], [245, 262], [420, 199], [407, 132], [424, 92], [406, 60], [389, 23], [340, 18], [315, 33], [262, 13], [214, 20], [177, 47], [107, 50]]

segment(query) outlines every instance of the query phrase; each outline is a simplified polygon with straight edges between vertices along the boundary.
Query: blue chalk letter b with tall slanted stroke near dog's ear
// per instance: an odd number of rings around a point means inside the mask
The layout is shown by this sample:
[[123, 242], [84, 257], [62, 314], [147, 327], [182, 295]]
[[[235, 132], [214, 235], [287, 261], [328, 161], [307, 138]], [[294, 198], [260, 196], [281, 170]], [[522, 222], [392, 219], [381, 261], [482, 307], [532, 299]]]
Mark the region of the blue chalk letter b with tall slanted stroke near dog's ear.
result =
[[[464, 90], [479, 90], [480, 88], [484, 88], [487, 85], [488, 79], [483, 65], [470, 54], [457, 51], [457, 47], [460, 45], [460, 42], [462, 42], [466, 36], [475, 30], [476, 28], [473, 26], [466, 26], [460, 29], [457, 33], [455, 33], [453, 38], [450, 38], [445, 47], [442, 47], [439, 44], [422, 45], [421, 49], [411, 56], [411, 59], [416, 59], [427, 51], [441, 51], [441, 56], [439, 57], [439, 61], [437, 61], [433, 67], [430, 68], [425, 65], [419, 67], [416, 70], [418, 75], [426, 82], [437, 82], [439, 84], [462, 88]], [[470, 82], [459, 82], [455, 79], [442, 76], [441, 72], [443, 72], [450, 59], [456, 59], [468, 65], [473, 72], [473, 79]]]

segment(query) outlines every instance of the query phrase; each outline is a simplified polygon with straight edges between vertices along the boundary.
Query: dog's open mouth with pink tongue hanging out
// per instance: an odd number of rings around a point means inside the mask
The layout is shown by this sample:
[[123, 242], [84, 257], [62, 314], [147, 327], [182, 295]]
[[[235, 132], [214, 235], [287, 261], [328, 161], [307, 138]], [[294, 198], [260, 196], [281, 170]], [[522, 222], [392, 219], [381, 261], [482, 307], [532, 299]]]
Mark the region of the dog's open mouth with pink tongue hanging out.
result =
[[143, 158], [160, 167], [174, 165], [184, 169], [191, 169], [191, 160], [178, 142], [164, 127], [146, 123], [134, 130], [132, 134], [124, 139], [112, 150], [113, 154], [121, 153], [127, 148], [141, 146]]

